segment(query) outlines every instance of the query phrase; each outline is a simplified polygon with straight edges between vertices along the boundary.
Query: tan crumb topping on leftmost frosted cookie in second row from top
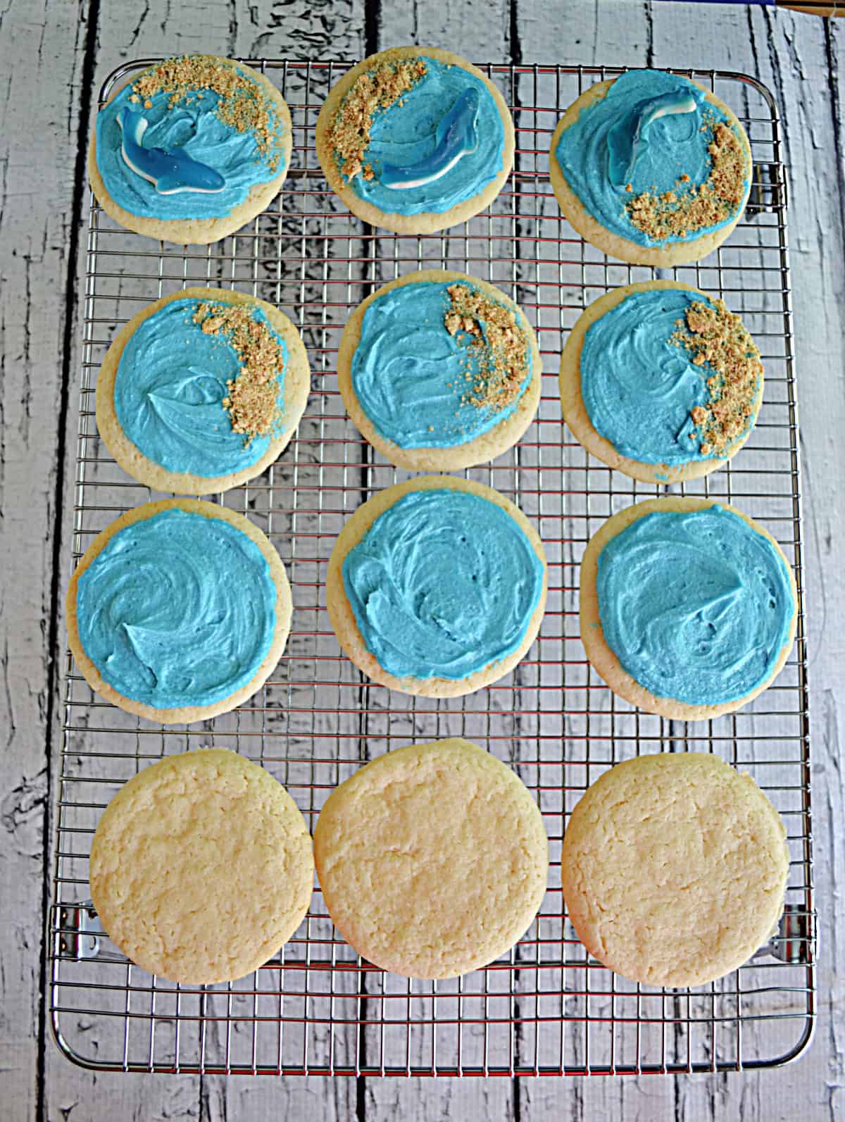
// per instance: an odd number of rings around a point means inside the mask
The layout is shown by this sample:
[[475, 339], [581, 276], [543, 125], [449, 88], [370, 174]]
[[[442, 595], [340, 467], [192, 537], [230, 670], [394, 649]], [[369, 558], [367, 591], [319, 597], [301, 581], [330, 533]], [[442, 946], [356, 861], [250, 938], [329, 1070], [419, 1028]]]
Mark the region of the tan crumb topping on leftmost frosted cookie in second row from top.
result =
[[227, 381], [229, 393], [223, 398], [232, 431], [246, 436], [246, 448], [256, 436], [276, 435], [284, 415], [278, 402], [278, 375], [284, 370], [285, 356], [269, 327], [255, 320], [245, 304], [211, 301], [200, 304], [193, 321], [204, 334], [223, 338], [238, 356], [240, 373]]

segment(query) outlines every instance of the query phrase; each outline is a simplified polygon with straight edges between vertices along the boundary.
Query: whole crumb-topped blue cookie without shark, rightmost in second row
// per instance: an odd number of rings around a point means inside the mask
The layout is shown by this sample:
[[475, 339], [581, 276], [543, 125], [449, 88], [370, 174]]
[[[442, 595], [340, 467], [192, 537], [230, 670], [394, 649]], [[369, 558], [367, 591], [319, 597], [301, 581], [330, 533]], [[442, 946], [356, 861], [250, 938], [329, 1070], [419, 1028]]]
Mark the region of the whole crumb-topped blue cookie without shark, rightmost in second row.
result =
[[760, 351], [720, 300], [678, 280], [599, 296], [560, 361], [563, 416], [584, 448], [652, 484], [727, 463], [763, 398]]

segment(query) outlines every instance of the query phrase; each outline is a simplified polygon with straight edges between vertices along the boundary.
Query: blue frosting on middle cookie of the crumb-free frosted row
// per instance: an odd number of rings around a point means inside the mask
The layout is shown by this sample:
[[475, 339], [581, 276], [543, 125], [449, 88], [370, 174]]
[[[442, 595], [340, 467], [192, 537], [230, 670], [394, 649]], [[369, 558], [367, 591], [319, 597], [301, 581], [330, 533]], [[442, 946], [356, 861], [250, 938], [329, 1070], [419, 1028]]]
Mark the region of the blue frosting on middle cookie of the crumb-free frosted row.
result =
[[525, 636], [543, 565], [514, 519], [467, 491], [410, 491], [343, 561], [358, 629], [397, 678], [459, 680]]

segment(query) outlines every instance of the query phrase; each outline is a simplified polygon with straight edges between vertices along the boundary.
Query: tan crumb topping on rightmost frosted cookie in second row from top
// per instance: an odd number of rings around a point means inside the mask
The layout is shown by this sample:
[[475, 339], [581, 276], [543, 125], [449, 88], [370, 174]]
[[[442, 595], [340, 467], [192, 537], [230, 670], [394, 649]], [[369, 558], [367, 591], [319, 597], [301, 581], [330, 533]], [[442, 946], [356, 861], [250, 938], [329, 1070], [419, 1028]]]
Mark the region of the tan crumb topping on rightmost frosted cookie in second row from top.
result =
[[[685, 322], [686, 320], [686, 322]], [[738, 315], [717, 300], [713, 305], [696, 301], [685, 320], [676, 321], [670, 342], [683, 347], [696, 366], [707, 364], [715, 373], [707, 379], [709, 397], [691, 412], [701, 439], [702, 456], [727, 456], [748, 430], [763, 375], [760, 351]]]

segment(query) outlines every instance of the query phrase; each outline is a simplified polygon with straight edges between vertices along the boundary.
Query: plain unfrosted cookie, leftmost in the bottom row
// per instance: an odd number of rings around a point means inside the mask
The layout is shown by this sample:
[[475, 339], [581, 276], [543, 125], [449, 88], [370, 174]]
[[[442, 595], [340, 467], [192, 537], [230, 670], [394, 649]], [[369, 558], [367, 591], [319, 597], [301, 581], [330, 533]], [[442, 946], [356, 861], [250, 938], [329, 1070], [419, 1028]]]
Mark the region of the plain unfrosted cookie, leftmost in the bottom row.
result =
[[286, 942], [314, 859], [281, 783], [224, 748], [167, 756], [126, 783], [91, 846], [91, 899], [134, 963], [189, 985], [231, 982]]

